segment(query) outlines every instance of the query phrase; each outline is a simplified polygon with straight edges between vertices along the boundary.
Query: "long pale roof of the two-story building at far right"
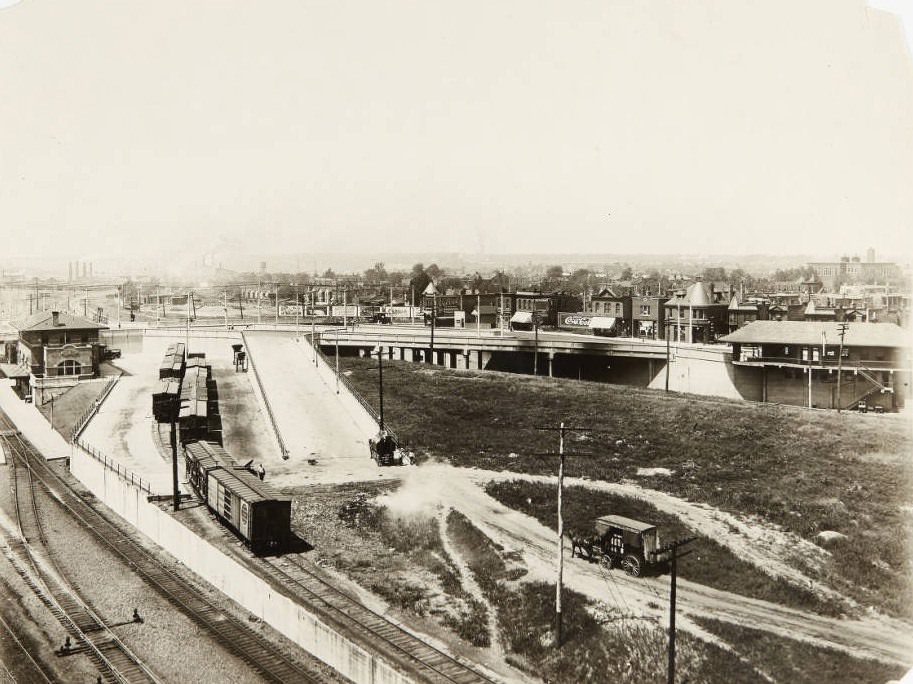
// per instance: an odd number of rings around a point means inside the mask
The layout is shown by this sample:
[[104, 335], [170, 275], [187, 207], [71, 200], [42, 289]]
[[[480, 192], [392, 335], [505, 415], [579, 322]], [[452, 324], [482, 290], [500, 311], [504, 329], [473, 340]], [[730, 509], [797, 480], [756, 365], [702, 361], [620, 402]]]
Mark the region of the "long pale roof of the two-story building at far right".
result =
[[[754, 321], [720, 338], [739, 344], [820, 345], [840, 343], [839, 323], [832, 321]], [[894, 323], [847, 323], [843, 344], [847, 347], [909, 348], [910, 332]]]

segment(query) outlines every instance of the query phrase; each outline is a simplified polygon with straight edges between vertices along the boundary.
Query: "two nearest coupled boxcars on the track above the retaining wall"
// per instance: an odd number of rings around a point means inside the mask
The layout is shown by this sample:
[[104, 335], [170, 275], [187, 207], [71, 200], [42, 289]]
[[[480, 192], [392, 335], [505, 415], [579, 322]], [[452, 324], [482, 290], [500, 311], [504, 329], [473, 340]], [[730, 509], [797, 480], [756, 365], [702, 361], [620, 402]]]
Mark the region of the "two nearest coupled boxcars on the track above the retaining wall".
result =
[[187, 479], [225, 526], [257, 555], [280, 553], [292, 539], [292, 500], [210, 441], [184, 445]]

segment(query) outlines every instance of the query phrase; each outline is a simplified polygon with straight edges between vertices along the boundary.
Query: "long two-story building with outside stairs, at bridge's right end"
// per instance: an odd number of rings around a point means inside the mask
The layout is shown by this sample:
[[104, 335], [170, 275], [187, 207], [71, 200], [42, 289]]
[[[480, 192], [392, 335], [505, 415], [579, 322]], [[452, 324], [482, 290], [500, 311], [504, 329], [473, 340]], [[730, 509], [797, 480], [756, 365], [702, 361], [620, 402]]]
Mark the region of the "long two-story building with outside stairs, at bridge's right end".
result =
[[910, 397], [910, 335], [894, 323], [755, 321], [720, 341], [751, 401], [896, 411]]

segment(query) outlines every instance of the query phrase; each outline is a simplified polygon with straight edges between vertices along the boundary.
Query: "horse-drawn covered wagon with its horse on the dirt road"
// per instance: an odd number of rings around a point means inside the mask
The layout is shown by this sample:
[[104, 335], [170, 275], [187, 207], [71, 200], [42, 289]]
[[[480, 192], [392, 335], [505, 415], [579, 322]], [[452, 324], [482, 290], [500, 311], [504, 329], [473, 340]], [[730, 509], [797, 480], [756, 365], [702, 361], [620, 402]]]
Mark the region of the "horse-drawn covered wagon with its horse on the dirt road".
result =
[[604, 515], [595, 521], [596, 534], [570, 535], [572, 554], [602, 563], [607, 568], [619, 565], [633, 577], [645, 570], [662, 571], [669, 552], [660, 551], [655, 525], [622, 515]]

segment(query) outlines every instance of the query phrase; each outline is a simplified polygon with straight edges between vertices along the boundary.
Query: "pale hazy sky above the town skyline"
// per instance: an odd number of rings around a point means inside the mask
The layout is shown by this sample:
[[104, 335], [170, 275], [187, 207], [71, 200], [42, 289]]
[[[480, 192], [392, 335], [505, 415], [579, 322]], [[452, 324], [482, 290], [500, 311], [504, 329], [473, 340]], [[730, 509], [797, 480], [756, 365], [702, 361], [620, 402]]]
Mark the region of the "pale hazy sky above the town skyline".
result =
[[[913, 34], [913, 0], [873, 4]], [[911, 54], [865, 0], [23, 0], [0, 12], [0, 262], [899, 259]]]

